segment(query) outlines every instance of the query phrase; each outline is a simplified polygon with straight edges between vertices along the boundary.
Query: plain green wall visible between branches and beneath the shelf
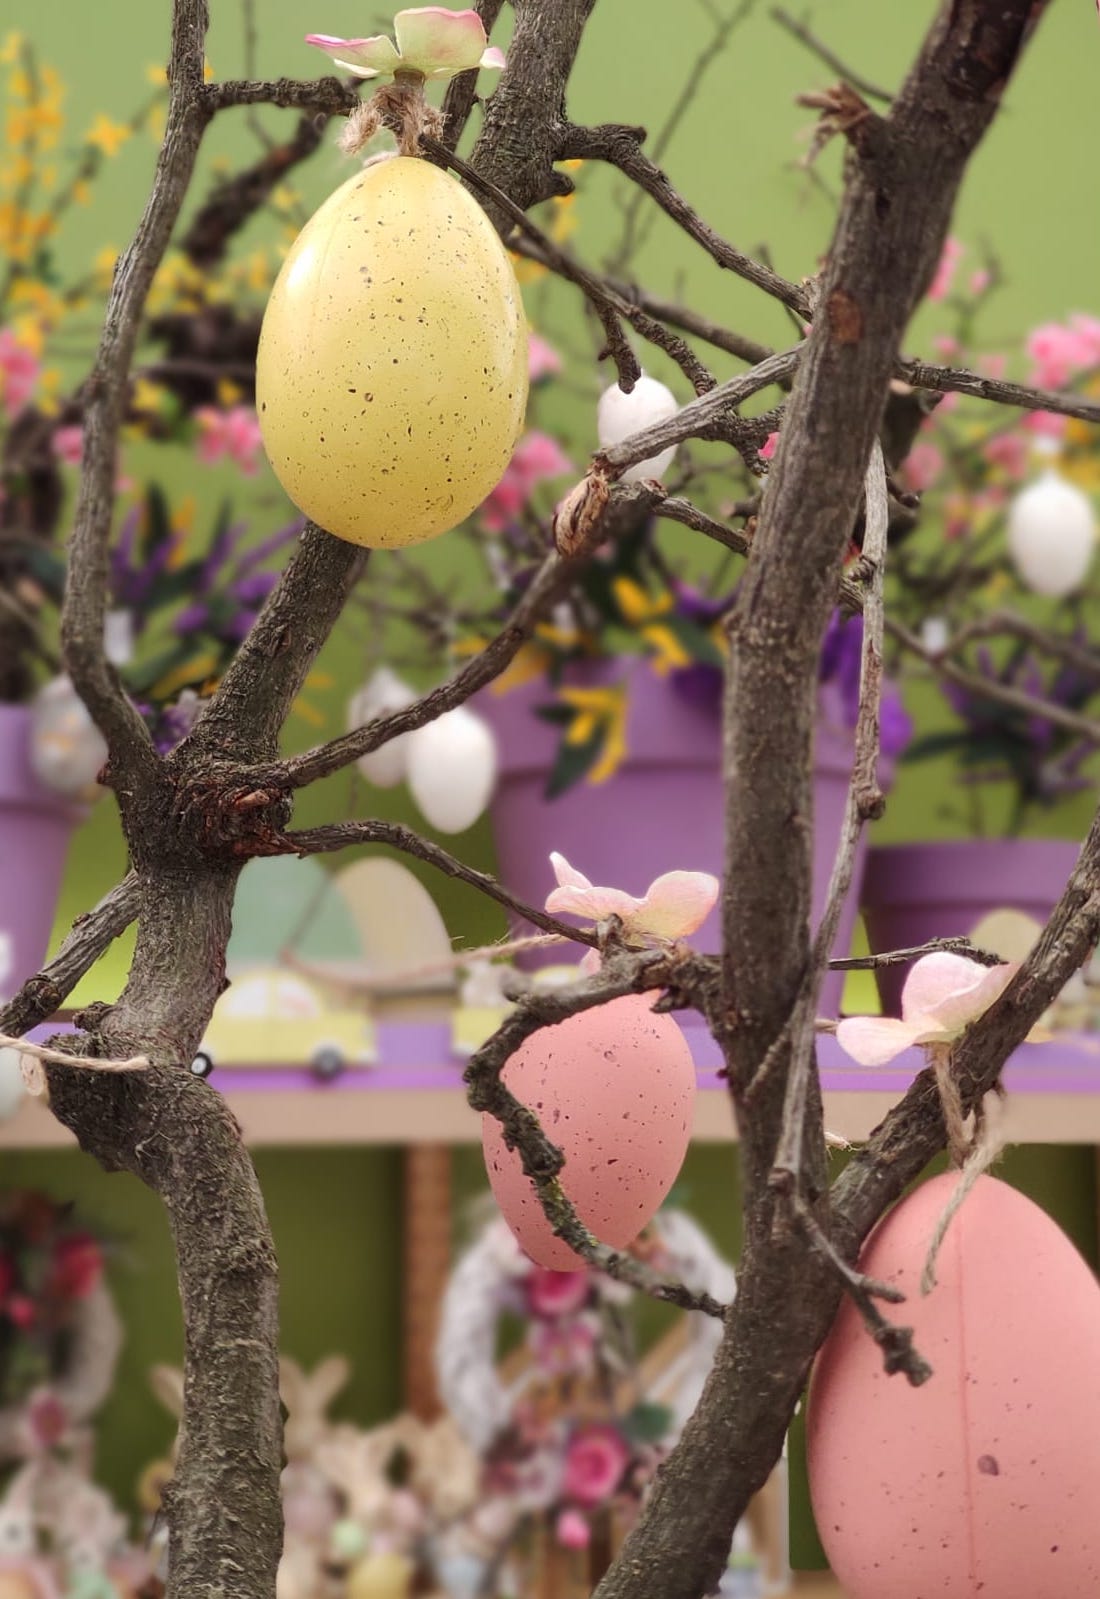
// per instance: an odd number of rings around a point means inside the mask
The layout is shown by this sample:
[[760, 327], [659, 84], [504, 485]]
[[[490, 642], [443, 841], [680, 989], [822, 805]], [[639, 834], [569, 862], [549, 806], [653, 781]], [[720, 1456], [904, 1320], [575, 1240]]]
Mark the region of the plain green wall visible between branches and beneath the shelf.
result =
[[[219, 75], [241, 70], [241, 14], [233, 0], [214, 0], [209, 59]], [[883, 0], [830, 0], [811, 8], [814, 24], [867, 77], [892, 86], [913, 56], [934, 14], [929, 0], [884, 5]], [[145, 69], [163, 62], [168, 5], [114, 0], [109, 8], [72, 0], [16, 0], [8, 13], [35, 40], [69, 86], [67, 109], [75, 134], [99, 110], [125, 115], [145, 93]], [[365, 34], [384, 26], [387, 13], [357, 0], [256, 0], [259, 72], [310, 75], [321, 58], [301, 38], [307, 30]], [[705, 51], [710, 22], [702, 3], [691, 0], [598, 0], [574, 77], [569, 110], [577, 120], [662, 125], [692, 62]], [[1004, 265], [1006, 288], [990, 318], [991, 337], [1009, 339], [1028, 326], [1073, 310], [1097, 310], [1100, 285], [1100, 229], [1095, 219], [1090, 154], [1100, 146], [1100, 34], [1087, 0], [1055, 0], [1014, 83], [1002, 117], [974, 161], [953, 232], [967, 245], [988, 245]], [[729, 238], [748, 249], [767, 246], [783, 273], [801, 277], [815, 269], [827, 245], [839, 177], [839, 150], [825, 154], [820, 182], [796, 168], [806, 150], [811, 114], [795, 96], [830, 80], [830, 74], [782, 34], [758, 3], [732, 35], [723, 58], [703, 78], [680, 123], [664, 163], [688, 198]], [[278, 115], [269, 126], [286, 126]], [[241, 114], [219, 120], [203, 157], [233, 163], [256, 154], [254, 136]], [[77, 272], [106, 243], [122, 245], [138, 217], [153, 157], [152, 141], [131, 141], [99, 185], [94, 205], [72, 216], [62, 237], [66, 265]], [[341, 181], [345, 166], [326, 144], [301, 185], [320, 200]], [[619, 184], [603, 171], [587, 171], [576, 205], [577, 248], [603, 259], [620, 230]], [[262, 224], [261, 224], [262, 227]], [[245, 243], [254, 235], [256, 225]], [[790, 337], [782, 312], [737, 280], [723, 275], [692, 251], [675, 229], [657, 217], [633, 272], [654, 291], [676, 294], [745, 333], [766, 341]], [[571, 355], [556, 398], [542, 413], [544, 424], [569, 440], [574, 457], [593, 443], [592, 398], [601, 385], [590, 361], [592, 334], [574, 301], [556, 285], [539, 286], [531, 312], [542, 331]], [[939, 321], [924, 310], [908, 339], [927, 352]], [[91, 347], [94, 329], [88, 326]], [[660, 360], [649, 369], [668, 377]], [[724, 371], [724, 369], [723, 369]], [[169, 457], [168, 462], [165, 457]], [[187, 453], [138, 449], [131, 470], [155, 469], [179, 492], [195, 489], [208, 508], [237, 491], [229, 470], [211, 470], [197, 483]], [[259, 526], [273, 526], [285, 502], [265, 478], [251, 494]], [[443, 540], [432, 560], [454, 564], [454, 548]], [[456, 577], [460, 574], [456, 572]], [[333, 688], [312, 696], [328, 716], [328, 732], [341, 731], [347, 694], [361, 680], [374, 640], [365, 636], [357, 612], [350, 616], [321, 667]], [[924, 720], [935, 715], [921, 702]], [[304, 747], [317, 731], [302, 720], [288, 729], [288, 745]], [[950, 830], [939, 814], [943, 769], [908, 771], [879, 823], [881, 838], [927, 836]], [[373, 809], [411, 817], [401, 792], [373, 795]], [[361, 785], [336, 779], [302, 796], [297, 822], [355, 814], [366, 804]], [[1087, 806], [1065, 812], [1054, 831], [1074, 835]], [[491, 863], [484, 825], [452, 841], [470, 860]], [[123, 870], [123, 849], [107, 803], [77, 836], [58, 932], [94, 902]], [[500, 923], [476, 897], [448, 883], [432, 891], [456, 935], [480, 942]], [[125, 974], [123, 940], [82, 985], [80, 996], [110, 998]], [[400, 1398], [398, 1271], [400, 1271], [400, 1154], [398, 1151], [262, 1151], [257, 1166], [272, 1210], [283, 1265], [285, 1348], [313, 1361], [342, 1348], [355, 1366], [344, 1409], [361, 1420], [390, 1412]], [[1092, 1151], [1015, 1151], [1006, 1175], [1018, 1180], [1070, 1228], [1081, 1247], [1097, 1258], [1095, 1177]], [[82, 1156], [5, 1156], [0, 1178], [34, 1183], [75, 1199], [88, 1218], [117, 1233], [122, 1255], [112, 1279], [126, 1316], [128, 1345], [120, 1383], [104, 1412], [102, 1471], [120, 1493], [152, 1453], [161, 1450], [169, 1425], [149, 1399], [145, 1370], [155, 1359], [177, 1359], [179, 1326], [168, 1238], [155, 1201], [134, 1182], [104, 1177]], [[459, 1193], [480, 1186], [476, 1156], [459, 1162]], [[737, 1172], [729, 1151], [692, 1153], [686, 1174], [688, 1202], [723, 1247], [735, 1249]], [[799, 1553], [809, 1557], [803, 1541]]]

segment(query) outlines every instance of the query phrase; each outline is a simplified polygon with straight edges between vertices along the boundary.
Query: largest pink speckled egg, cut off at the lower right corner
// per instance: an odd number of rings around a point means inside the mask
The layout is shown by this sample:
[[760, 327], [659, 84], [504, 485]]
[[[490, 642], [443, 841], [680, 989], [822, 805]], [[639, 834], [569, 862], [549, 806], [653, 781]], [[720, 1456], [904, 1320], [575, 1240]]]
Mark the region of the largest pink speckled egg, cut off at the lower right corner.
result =
[[809, 1394], [817, 1527], [849, 1599], [1095, 1599], [1100, 1594], [1100, 1287], [1023, 1194], [978, 1178], [937, 1287], [929, 1239], [956, 1177], [924, 1183], [860, 1265], [934, 1367], [887, 1377], [851, 1302]]

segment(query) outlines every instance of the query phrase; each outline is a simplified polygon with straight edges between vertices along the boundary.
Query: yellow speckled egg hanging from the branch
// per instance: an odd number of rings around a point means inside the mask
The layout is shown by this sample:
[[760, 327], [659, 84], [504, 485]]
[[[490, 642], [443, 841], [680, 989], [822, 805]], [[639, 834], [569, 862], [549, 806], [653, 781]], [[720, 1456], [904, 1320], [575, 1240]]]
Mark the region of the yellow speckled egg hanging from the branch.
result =
[[256, 361], [267, 457], [299, 510], [373, 548], [433, 539], [504, 477], [526, 398], [523, 301], [476, 200], [411, 157], [329, 195]]

